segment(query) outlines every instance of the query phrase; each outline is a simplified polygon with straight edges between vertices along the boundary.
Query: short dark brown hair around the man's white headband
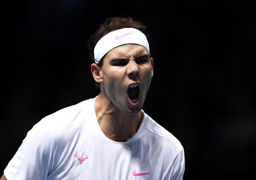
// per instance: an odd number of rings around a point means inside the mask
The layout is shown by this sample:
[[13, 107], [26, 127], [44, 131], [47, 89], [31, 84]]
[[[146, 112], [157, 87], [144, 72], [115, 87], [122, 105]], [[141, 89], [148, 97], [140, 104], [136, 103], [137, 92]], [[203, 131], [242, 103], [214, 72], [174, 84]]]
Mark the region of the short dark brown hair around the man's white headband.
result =
[[[140, 30], [148, 38], [148, 35], [146, 34], [146, 26], [144, 26], [139, 21], [136, 21], [136, 20], [132, 19], [131, 17], [115, 17], [115, 18], [107, 19], [104, 23], [102, 23], [100, 25], [98, 30], [94, 34], [92, 34], [92, 36], [89, 38], [89, 40], [87, 42], [87, 46], [88, 46], [89, 51], [90, 51], [89, 52], [90, 57], [91, 57], [93, 63], [95, 63], [94, 47], [96, 46], [97, 42], [103, 36], [105, 36], [106, 34], [112, 32], [112, 31], [115, 31], [115, 30], [118, 30], [118, 29], [123, 29], [123, 28], [128, 28], [128, 27], [132, 27], [132, 28]], [[98, 66], [103, 65], [104, 57], [105, 56], [103, 56], [100, 59], [99, 63], [97, 63]], [[100, 83], [95, 81], [95, 86], [97, 88], [100, 88]]]

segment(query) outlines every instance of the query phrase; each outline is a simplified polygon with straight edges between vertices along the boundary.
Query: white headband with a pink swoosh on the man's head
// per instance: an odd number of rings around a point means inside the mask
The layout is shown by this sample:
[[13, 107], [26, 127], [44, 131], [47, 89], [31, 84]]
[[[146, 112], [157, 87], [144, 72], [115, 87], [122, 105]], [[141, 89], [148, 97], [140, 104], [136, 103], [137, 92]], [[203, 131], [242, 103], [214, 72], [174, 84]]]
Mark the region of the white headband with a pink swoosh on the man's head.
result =
[[123, 44], [139, 44], [144, 46], [149, 54], [149, 45], [145, 34], [135, 28], [123, 28], [106, 34], [97, 42], [94, 48], [95, 63], [99, 63], [108, 51]]

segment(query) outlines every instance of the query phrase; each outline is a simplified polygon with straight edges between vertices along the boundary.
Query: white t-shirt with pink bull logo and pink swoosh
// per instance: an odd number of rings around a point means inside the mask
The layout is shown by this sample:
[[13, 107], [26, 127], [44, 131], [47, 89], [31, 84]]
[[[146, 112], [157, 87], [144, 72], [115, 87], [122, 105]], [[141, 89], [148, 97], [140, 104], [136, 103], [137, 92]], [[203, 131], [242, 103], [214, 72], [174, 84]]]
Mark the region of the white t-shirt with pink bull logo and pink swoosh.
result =
[[108, 139], [89, 99], [44, 117], [28, 131], [4, 169], [8, 180], [182, 179], [184, 149], [143, 110], [137, 133]]

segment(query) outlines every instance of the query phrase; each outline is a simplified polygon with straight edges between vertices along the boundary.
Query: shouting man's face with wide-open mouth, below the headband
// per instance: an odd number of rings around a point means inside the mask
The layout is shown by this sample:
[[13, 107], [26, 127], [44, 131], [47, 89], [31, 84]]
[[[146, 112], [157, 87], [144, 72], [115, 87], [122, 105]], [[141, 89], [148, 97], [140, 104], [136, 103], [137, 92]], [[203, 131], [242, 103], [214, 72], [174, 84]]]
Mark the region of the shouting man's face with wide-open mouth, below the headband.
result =
[[101, 91], [106, 92], [109, 100], [126, 114], [139, 113], [153, 77], [153, 59], [150, 61], [147, 49], [125, 44], [110, 50], [100, 73]]

